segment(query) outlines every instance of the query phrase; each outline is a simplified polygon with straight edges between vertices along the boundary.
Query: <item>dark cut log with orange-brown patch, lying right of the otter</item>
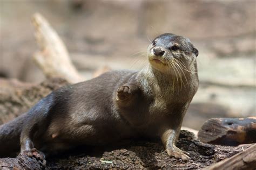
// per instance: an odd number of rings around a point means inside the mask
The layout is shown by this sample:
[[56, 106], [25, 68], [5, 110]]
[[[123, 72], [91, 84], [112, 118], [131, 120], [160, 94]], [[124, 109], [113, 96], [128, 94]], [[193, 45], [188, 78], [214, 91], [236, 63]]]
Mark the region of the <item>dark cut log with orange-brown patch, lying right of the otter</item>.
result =
[[209, 119], [198, 138], [204, 143], [229, 146], [256, 143], [256, 117]]

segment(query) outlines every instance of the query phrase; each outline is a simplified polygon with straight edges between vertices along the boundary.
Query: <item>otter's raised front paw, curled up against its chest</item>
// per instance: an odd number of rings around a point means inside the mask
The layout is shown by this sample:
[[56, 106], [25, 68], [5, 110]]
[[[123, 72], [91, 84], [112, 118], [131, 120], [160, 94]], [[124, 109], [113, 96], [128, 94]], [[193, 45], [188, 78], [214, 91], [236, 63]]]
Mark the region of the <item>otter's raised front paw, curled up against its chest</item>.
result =
[[116, 101], [120, 107], [129, 107], [138, 99], [139, 87], [127, 83], [117, 89]]

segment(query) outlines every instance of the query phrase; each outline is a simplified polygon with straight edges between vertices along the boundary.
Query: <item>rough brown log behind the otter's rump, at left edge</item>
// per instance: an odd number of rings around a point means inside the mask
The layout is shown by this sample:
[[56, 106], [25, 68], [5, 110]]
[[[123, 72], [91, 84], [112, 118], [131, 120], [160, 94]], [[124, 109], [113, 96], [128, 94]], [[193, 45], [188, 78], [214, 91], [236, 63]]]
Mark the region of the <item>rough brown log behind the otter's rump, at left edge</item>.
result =
[[41, 98], [66, 84], [66, 80], [52, 78], [42, 83], [24, 83], [0, 79], [0, 125], [28, 111]]

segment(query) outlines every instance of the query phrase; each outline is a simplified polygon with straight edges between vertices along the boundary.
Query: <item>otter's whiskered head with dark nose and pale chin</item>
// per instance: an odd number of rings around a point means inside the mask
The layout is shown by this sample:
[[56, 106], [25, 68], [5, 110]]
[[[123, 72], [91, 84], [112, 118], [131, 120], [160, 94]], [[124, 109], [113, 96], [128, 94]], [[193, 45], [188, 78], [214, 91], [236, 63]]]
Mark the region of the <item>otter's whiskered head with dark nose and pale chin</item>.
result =
[[188, 38], [165, 33], [152, 41], [147, 48], [147, 56], [154, 69], [174, 73], [177, 69], [190, 70], [198, 50]]

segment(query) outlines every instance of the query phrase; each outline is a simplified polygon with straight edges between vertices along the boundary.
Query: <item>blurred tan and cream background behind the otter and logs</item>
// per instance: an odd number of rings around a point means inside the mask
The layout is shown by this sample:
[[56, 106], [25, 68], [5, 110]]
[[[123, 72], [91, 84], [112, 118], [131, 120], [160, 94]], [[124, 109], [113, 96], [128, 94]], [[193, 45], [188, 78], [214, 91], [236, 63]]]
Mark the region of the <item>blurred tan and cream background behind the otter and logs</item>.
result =
[[188, 37], [199, 50], [200, 87], [183, 125], [256, 116], [255, 0], [0, 0], [1, 77], [45, 79], [32, 61], [35, 12], [48, 19], [87, 79], [103, 67], [143, 68], [147, 46], [161, 33]]

